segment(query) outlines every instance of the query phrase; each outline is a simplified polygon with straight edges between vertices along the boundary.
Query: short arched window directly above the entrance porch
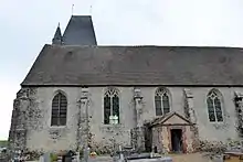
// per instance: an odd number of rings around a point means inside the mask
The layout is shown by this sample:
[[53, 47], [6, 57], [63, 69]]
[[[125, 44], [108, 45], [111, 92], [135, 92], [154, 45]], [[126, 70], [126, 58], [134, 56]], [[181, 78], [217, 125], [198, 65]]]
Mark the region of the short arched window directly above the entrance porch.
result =
[[158, 88], [155, 95], [156, 116], [170, 112], [170, 98], [166, 88]]

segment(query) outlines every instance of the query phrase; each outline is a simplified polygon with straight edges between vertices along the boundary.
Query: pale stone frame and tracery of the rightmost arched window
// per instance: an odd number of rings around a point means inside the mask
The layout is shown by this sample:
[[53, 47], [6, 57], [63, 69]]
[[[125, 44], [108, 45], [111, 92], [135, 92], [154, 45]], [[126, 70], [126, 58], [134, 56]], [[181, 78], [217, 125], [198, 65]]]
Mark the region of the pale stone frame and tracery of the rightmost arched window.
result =
[[[211, 98], [212, 101], [212, 108], [213, 108], [213, 116], [214, 116], [214, 120], [211, 120], [210, 118], [210, 107], [209, 107], [209, 98]], [[219, 99], [220, 101], [220, 112], [216, 114], [216, 105], [215, 105], [215, 99]], [[205, 104], [207, 104], [207, 112], [208, 112], [208, 119], [210, 122], [212, 123], [223, 123], [224, 122], [224, 102], [223, 102], [223, 95], [221, 94], [221, 91], [219, 89], [212, 88], [209, 90], [209, 93], [207, 94], [205, 97]], [[221, 116], [222, 119], [218, 119]]]

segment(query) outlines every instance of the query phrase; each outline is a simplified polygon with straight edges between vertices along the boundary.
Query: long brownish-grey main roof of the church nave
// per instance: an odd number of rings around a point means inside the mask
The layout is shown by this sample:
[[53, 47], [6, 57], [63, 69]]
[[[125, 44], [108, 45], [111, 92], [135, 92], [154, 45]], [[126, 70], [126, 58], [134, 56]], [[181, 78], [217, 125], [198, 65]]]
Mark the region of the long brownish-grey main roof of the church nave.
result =
[[22, 86], [243, 86], [243, 48], [45, 45]]

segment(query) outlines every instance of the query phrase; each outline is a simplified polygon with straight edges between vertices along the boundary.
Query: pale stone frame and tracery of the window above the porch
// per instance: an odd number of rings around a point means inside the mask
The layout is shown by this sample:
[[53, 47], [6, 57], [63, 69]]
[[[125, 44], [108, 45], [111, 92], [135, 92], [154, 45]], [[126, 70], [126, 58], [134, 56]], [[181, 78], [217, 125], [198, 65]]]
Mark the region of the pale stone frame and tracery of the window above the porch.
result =
[[[163, 95], [167, 95], [167, 97], [168, 97], [168, 102], [169, 102], [169, 111], [168, 112], [166, 112], [166, 114], [169, 114], [169, 112], [171, 112], [171, 110], [172, 110], [172, 96], [171, 96], [171, 93], [170, 93], [170, 90], [168, 89], [168, 88], [166, 88], [166, 87], [158, 87], [158, 88], [156, 88], [156, 90], [155, 90], [155, 93], [154, 93], [154, 105], [155, 105], [155, 111], [156, 111], [156, 116], [158, 117], [158, 116], [163, 116], [163, 115], [166, 115], [165, 114], [165, 107], [163, 107], [163, 104], [162, 104], [162, 96]], [[157, 111], [157, 104], [156, 104], [156, 96], [157, 95], [159, 95], [160, 96], [160, 101], [161, 101], [161, 112], [159, 114], [158, 111]]]

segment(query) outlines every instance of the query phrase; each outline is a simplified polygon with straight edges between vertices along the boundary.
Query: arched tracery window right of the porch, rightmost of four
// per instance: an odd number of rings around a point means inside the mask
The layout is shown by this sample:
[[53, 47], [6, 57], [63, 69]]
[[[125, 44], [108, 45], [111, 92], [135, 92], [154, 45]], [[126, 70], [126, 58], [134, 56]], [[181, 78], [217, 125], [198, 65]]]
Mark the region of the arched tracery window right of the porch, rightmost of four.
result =
[[222, 97], [215, 89], [209, 91], [207, 96], [209, 120], [211, 122], [223, 121]]

